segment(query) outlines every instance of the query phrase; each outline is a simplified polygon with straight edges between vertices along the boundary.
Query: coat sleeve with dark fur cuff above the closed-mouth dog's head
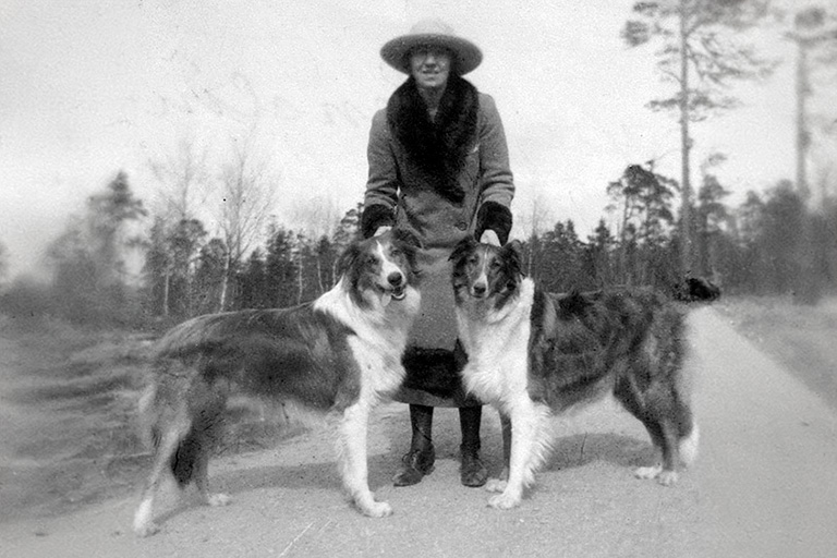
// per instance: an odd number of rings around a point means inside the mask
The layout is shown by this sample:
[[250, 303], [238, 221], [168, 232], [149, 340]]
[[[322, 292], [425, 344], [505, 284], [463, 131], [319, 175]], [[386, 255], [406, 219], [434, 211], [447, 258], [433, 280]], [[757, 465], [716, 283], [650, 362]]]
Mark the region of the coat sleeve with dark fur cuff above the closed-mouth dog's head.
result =
[[509, 166], [509, 148], [502, 129], [500, 113], [494, 99], [481, 95], [483, 111], [480, 129], [480, 208], [476, 213], [475, 235], [490, 229], [506, 243], [511, 232], [511, 201], [514, 181]]

